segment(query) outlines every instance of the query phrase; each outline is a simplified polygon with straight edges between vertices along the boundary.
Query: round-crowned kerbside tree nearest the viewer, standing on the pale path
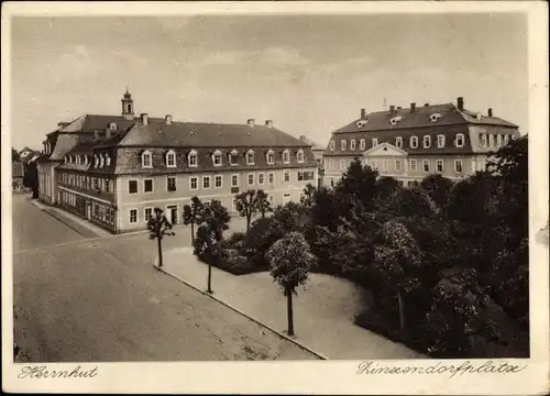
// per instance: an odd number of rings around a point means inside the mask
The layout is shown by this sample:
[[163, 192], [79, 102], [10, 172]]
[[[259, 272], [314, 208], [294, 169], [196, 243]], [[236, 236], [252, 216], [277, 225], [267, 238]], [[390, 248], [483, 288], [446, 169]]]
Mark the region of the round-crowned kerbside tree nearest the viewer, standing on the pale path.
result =
[[309, 279], [316, 257], [299, 232], [289, 232], [273, 244], [266, 254], [274, 282], [283, 288], [287, 300], [288, 336], [294, 336], [293, 295]]

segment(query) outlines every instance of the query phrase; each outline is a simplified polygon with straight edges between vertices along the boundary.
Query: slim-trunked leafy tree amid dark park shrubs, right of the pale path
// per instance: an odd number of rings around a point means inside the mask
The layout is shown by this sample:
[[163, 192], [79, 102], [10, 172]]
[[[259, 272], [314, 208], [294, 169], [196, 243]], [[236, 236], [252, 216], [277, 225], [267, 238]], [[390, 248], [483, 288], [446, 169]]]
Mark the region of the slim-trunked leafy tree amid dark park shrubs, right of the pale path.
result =
[[405, 296], [418, 287], [421, 253], [410, 232], [400, 222], [387, 221], [378, 237], [374, 248], [374, 265], [384, 274], [388, 289], [397, 295], [399, 323], [405, 333]]

